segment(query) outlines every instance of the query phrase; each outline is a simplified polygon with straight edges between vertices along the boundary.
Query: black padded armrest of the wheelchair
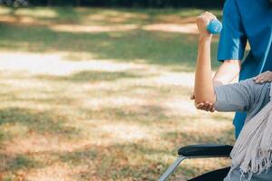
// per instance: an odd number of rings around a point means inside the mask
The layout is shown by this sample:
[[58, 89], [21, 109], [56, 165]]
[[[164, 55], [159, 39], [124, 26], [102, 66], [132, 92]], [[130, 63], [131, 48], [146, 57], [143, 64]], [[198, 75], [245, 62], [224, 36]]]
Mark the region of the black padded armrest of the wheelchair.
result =
[[184, 157], [229, 157], [230, 145], [190, 145], [180, 148], [178, 154]]

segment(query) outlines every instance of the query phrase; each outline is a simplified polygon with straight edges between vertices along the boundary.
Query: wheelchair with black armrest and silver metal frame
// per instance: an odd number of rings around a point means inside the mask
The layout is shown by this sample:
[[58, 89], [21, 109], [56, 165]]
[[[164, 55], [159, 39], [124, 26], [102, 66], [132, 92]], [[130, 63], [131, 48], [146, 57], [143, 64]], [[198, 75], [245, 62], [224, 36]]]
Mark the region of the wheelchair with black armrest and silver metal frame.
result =
[[[185, 159], [229, 157], [232, 148], [233, 147], [230, 145], [190, 145], [187, 147], [182, 147], [178, 150], [178, 158], [172, 165], [170, 165], [166, 172], [160, 176], [159, 181], [166, 181]], [[229, 169], [230, 167], [226, 167], [215, 171], [210, 171], [201, 176], [191, 178], [188, 181], [223, 181], [223, 179], [228, 175]]]

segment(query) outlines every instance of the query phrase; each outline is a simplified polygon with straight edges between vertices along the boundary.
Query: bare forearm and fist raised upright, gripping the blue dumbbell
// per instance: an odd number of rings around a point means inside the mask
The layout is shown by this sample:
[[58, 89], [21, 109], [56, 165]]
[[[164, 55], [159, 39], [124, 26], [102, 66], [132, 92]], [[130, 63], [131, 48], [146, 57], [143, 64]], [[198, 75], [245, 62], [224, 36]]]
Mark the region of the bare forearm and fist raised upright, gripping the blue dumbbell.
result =
[[212, 83], [212, 72], [210, 62], [210, 42], [212, 35], [207, 31], [206, 26], [214, 19], [213, 14], [208, 12], [201, 14], [197, 19], [199, 28], [199, 53], [195, 74], [195, 103], [209, 101], [212, 104], [216, 101]]

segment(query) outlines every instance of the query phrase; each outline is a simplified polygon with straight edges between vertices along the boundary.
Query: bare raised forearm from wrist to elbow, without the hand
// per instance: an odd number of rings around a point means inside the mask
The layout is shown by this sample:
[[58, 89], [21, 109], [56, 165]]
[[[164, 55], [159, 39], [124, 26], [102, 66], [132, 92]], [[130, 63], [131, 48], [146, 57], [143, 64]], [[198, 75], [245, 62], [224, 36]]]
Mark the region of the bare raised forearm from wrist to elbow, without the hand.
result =
[[211, 62], [210, 62], [211, 36], [200, 36], [199, 54], [195, 74], [195, 102], [203, 101], [214, 103], [216, 95], [213, 89]]

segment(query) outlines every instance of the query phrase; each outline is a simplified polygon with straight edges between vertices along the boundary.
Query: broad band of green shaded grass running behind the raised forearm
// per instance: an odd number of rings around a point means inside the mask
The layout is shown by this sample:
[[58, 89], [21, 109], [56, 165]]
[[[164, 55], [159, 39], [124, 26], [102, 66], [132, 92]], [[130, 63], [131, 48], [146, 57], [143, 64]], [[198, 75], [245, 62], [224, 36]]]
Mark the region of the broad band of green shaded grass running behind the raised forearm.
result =
[[[152, 33], [142, 30], [123, 33], [62, 33], [44, 26], [28, 27], [7, 24], [2, 25], [1, 30], [0, 45], [7, 50], [90, 53], [92, 57], [89, 57], [92, 59], [148, 62], [168, 65], [178, 71], [193, 71], [197, 58], [198, 37], [193, 34]], [[10, 39], [13, 41], [9, 41]], [[216, 51], [215, 42], [212, 44], [212, 58], [213, 62], [219, 65], [215, 61]], [[72, 60], [82, 60], [82, 58], [73, 56]]]

